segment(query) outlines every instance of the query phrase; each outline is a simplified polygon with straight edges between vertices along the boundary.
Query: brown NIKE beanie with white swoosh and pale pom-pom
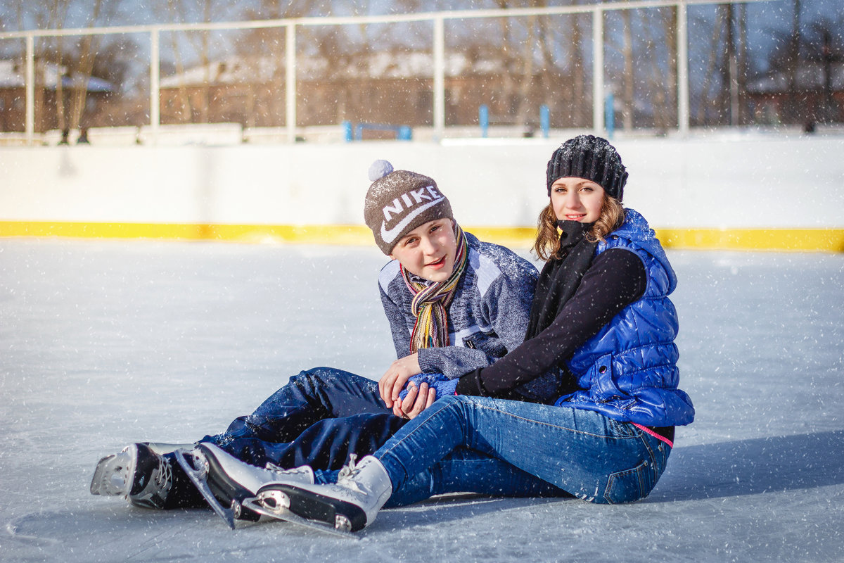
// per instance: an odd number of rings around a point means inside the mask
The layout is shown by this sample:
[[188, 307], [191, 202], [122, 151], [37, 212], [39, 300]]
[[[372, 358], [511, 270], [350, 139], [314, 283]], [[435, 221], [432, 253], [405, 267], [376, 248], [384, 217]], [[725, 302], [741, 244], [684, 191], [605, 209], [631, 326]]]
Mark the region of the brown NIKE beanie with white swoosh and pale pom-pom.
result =
[[364, 220], [384, 254], [389, 255], [396, 243], [419, 225], [454, 219], [452, 204], [428, 176], [393, 171], [387, 160], [373, 162], [369, 176], [372, 185], [366, 192]]

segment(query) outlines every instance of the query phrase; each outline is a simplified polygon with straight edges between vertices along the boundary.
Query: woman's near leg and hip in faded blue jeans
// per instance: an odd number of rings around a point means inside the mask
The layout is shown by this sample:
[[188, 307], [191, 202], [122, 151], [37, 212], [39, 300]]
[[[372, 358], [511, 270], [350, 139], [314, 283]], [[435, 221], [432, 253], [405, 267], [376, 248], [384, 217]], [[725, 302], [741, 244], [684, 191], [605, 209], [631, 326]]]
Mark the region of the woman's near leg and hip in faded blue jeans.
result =
[[647, 496], [671, 451], [636, 426], [596, 412], [457, 395], [422, 411], [373, 455], [397, 494], [419, 474], [438, 471], [436, 465], [458, 448], [602, 504]]

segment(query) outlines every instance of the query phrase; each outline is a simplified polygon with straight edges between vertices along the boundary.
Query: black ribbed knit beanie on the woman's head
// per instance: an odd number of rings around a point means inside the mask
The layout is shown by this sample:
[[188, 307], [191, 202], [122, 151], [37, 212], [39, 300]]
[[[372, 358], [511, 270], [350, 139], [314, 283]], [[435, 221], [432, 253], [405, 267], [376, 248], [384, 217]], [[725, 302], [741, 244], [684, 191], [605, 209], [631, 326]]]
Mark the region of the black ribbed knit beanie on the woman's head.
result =
[[559, 178], [586, 178], [603, 187], [613, 198], [621, 201], [625, 193], [627, 169], [621, 156], [605, 138], [579, 135], [560, 145], [548, 161], [548, 196], [551, 184]]

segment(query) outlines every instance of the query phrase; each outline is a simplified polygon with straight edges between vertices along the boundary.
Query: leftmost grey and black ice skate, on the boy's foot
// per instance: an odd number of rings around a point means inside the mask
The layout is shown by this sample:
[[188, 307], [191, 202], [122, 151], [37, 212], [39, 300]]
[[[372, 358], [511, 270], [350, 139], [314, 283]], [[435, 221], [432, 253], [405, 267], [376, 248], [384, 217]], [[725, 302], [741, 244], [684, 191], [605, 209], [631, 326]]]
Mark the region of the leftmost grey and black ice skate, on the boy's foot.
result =
[[161, 446], [132, 444], [100, 459], [91, 479], [91, 494], [124, 496], [134, 506], [164, 508], [173, 471], [170, 460], [160, 454], [165, 449]]

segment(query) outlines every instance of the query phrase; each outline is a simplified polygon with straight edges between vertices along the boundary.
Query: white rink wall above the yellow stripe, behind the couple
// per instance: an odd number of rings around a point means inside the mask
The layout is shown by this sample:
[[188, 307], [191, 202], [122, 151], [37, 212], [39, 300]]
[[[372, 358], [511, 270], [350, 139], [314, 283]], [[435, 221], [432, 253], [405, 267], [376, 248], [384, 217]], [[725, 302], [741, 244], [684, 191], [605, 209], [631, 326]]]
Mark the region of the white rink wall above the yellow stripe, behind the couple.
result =
[[[0, 148], [0, 221], [362, 225], [373, 160], [436, 179], [463, 225], [529, 227], [559, 139]], [[619, 139], [657, 228], [844, 227], [844, 137]]]

